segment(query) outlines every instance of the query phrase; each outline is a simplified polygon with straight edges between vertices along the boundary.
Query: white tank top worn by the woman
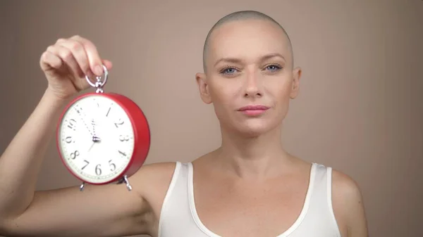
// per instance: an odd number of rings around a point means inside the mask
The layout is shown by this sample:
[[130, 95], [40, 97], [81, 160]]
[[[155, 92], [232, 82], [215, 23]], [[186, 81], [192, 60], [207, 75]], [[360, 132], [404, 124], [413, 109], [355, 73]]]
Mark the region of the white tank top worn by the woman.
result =
[[[302, 211], [288, 230], [276, 237], [341, 237], [331, 200], [331, 167], [312, 164]], [[159, 237], [221, 237], [202, 224], [195, 210], [192, 163], [176, 162], [159, 219]]]

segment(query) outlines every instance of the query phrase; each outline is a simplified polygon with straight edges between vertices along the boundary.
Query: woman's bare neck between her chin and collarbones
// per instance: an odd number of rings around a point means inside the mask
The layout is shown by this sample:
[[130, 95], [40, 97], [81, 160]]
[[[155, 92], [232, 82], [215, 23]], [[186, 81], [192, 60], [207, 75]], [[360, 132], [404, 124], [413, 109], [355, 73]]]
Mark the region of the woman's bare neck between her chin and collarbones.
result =
[[282, 146], [280, 127], [252, 137], [223, 130], [216, 153], [216, 161], [224, 170], [242, 179], [256, 180], [280, 174], [281, 165], [290, 158]]

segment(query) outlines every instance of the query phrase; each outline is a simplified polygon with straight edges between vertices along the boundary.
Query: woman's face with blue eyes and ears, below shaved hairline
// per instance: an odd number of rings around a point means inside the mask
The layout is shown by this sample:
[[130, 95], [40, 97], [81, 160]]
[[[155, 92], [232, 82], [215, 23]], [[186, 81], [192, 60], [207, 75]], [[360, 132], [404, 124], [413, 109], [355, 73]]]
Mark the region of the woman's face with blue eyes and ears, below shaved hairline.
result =
[[239, 20], [217, 28], [207, 72], [197, 74], [197, 82], [221, 127], [247, 136], [279, 127], [298, 94], [300, 69], [293, 70], [292, 58], [288, 37], [274, 23]]

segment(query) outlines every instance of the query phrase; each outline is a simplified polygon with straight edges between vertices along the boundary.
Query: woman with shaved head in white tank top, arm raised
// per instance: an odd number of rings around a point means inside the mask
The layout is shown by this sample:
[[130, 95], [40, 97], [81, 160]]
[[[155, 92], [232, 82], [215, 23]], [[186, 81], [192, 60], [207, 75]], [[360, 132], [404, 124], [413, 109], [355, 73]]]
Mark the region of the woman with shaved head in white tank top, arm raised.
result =
[[269, 16], [236, 12], [204, 44], [196, 79], [221, 125], [219, 148], [193, 162], [145, 165], [116, 185], [35, 191], [63, 105], [102, 75], [94, 44], [59, 39], [40, 60], [48, 87], [0, 158], [5, 236], [367, 236], [360, 190], [345, 174], [290, 155], [281, 124], [298, 94], [288, 35]]

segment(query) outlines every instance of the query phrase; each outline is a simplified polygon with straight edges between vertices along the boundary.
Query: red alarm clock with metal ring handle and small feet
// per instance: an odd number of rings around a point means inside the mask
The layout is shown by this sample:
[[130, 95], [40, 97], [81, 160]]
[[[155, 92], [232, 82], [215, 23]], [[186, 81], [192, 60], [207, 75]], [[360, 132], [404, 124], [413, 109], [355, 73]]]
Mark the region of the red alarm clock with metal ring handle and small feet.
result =
[[97, 90], [83, 94], [63, 111], [56, 132], [56, 145], [63, 164], [85, 184], [130, 186], [128, 177], [144, 164], [150, 147], [147, 118], [137, 104], [121, 94], [105, 93], [104, 79], [85, 76]]

